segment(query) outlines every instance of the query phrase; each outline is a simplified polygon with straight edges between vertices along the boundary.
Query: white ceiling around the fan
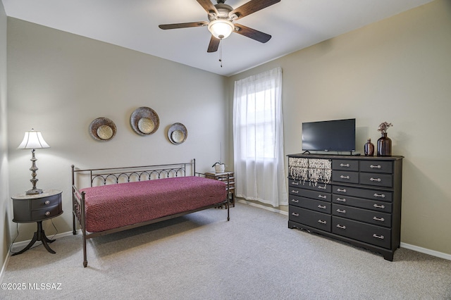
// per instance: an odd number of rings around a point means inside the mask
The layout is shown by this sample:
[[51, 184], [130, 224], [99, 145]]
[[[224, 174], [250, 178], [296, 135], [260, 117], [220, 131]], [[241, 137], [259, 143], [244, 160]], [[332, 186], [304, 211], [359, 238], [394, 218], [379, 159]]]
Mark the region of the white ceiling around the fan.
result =
[[[208, 21], [196, 0], [1, 1], [9, 17], [230, 76], [433, 0], [281, 0], [238, 21], [271, 35], [266, 44], [233, 33], [214, 53], [206, 52], [206, 27], [158, 27]], [[247, 1], [226, 4], [237, 8]]]

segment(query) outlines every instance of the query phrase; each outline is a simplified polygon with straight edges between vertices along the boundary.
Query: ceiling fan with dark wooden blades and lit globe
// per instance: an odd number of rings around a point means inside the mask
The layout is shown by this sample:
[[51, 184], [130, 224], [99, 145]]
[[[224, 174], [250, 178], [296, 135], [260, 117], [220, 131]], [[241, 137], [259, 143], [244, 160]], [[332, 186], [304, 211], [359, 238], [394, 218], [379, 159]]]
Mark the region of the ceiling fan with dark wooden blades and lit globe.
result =
[[256, 11], [260, 11], [263, 8], [276, 4], [280, 2], [280, 0], [251, 0], [235, 9], [233, 9], [232, 6], [225, 4], [226, 0], [216, 1], [218, 4], [213, 5], [210, 0], [197, 0], [206, 13], [208, 13], [209, 22], [199, 21], [163, 24], [159, 25], [159, 27], [166, 30], [208, 26], [209, 31], [211, 32], [211, 39], [207, 52], [217, 51], [221, 39], [226, 39], [232, 32], [239, 33], [245, 37], [250, 37], [261, 43], [266, 43], [271, 39], [271, 35], [233, 22], [246, 15], [250, 15], [251, 13], [255, 13]]

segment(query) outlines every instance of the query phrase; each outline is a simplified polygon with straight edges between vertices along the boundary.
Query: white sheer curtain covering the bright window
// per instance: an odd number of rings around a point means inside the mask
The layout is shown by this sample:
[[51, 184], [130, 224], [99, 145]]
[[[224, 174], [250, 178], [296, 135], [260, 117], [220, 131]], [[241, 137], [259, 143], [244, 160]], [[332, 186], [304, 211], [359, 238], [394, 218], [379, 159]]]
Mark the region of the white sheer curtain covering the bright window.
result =
[[288, 205], [281, 68], [235, 81], [233, 141], [236, 195]]

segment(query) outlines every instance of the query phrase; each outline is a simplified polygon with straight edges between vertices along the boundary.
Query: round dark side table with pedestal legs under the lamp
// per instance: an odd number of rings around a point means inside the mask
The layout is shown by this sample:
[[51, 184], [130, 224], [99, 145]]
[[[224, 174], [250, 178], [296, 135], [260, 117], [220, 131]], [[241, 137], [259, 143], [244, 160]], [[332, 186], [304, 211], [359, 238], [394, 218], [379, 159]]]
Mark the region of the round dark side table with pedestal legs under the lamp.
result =
[[56, 252], [49, 247], [48, 243], [54, 242], [54, 239], [49, 239], [44, 230], [42, 229], [42, 221], [55, 218], [63, 213], [61, 204], [61, 194], [63, 192], [57, 189], [49, 189], [43, 191], [41, 194], [26, 195], [18, 194], [12, 196], [14, 218], [13, 222], [16, 223], [37, 223], [37, 230], [33, 235], [30, 244], [25, 246], [24, 249], [15, 252], [13, 255], [23, 254], [23, 252], [30, 249], [30, 247], [37, 241], [41, 241], [45, 249], [51, 254]]

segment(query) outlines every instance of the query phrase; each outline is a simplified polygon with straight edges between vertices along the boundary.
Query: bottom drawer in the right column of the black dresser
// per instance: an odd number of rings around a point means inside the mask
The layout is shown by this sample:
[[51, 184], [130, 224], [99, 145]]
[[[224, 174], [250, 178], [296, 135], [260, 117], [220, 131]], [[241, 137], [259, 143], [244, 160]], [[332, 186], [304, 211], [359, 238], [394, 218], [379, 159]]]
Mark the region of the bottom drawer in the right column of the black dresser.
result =
[[343, 237], [390, 249], [390, 228], [369, 225], [359, 221], [332, 217], [332, 232]]

